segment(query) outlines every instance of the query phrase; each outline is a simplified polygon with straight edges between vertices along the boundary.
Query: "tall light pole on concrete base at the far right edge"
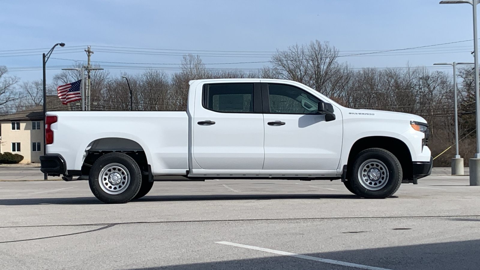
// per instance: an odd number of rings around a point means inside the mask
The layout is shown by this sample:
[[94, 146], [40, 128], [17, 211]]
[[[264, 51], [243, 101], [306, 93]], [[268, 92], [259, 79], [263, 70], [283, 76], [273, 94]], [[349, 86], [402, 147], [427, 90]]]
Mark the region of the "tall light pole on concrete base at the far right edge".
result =
[[480, 0], [443, 0], [441, 4], [465, 4], [473, 6], [473, 52], [475, 58], [475, 110], [477, 118], [477, 152], [473, 159], [468, 160], [470, 168], [470, 185], [480, 185], [480, 93], [479, 93], [479, 55], [477, 48], [477, 4]]

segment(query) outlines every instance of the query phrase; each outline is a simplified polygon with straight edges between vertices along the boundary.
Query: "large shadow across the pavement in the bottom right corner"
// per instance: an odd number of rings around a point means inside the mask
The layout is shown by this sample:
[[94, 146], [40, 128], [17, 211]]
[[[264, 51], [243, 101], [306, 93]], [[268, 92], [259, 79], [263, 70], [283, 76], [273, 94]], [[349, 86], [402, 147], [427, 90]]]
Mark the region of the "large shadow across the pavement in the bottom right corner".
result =
[[[269, 248], [268, 246], [261, 247]], [[225, 249], [228, 250], [228, 254], [234, 251], [237, 252], [239, 256], [255, 256], [263, 258], [193, 263], [164, 267], [134, 268], [134, 270], [358, 269], [290, 256], [272, 257], [266, 252], [249, 250], [241, 247], [226, 246]], [[294, 252], [292, 250], [282, 251]], [[303, 255], [392, 270], [478, 270], [480, 265], [480, 256], [478, 256], [479, 253], [480, 240], [470, 240], [438, 244], [311, 253]], [[126, 268], [125, 270], [127, 269], [133, 270], [132, 268]]]

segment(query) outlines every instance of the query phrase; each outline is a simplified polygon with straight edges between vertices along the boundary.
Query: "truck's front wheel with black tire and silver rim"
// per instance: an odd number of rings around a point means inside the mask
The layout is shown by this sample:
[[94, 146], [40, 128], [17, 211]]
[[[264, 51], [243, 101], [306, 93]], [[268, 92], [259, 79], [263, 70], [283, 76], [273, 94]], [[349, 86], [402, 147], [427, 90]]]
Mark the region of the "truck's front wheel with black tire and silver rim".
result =
[[369, 148], [356, 157], [348, 182], [355, 194], [380, 199], [392, 196], [402, 183], [400, 161], [382, 148]]

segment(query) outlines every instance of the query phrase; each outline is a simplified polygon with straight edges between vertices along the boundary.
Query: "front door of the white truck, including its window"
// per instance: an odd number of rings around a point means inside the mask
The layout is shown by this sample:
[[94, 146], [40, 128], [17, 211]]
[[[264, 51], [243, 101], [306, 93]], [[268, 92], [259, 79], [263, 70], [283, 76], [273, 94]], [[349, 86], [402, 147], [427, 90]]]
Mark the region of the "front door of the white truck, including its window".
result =
[[325, 122], [317, 110], [320, 100], [295, 86], [262, 83], [262, 94], [263, 169], [336, 170], [342, 148], [341, 113]]

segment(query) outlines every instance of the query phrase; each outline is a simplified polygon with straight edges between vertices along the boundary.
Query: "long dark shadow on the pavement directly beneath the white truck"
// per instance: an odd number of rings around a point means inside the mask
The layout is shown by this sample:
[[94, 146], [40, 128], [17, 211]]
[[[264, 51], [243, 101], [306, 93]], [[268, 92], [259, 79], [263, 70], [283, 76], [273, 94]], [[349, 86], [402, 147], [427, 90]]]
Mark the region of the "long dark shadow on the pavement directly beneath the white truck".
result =
[[[392, 196], [396, 197], [396, 196]], [[288, 194], [288, 195], [168, 195], [144, 196], [132, 200], [135, 202], [160, 202], [160, 201], [210, 201], [210, 200], [272, 200], [272, 199], [355, 199], [356, 195], [327, 195], [327, 194]], [[0, 205], [39, 205], [39, 204], [102, 204], [96, 197], [67, 197], [67, 198], [26, 198], [26, 199], [0, 199]]]

